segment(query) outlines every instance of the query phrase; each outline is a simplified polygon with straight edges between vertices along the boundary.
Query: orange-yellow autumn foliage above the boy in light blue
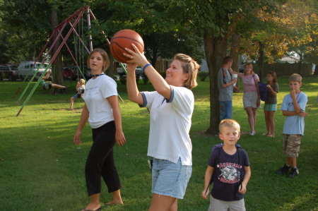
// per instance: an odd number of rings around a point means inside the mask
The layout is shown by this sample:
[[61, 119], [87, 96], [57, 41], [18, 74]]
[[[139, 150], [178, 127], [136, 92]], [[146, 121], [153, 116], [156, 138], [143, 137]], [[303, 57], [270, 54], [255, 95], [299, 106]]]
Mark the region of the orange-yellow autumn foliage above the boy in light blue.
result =
[[315, 61], [318, 32], [314, 1], [290, 0], [275, 11], [257, 11], [254, 16], [259, 23], [253, 24], [254, 30], [242, 38], [242, 54], [256, 60], [261, 67], [264, 62], [271, 64], [297, 52], [302, 58], [299, 73], [302, 62]]

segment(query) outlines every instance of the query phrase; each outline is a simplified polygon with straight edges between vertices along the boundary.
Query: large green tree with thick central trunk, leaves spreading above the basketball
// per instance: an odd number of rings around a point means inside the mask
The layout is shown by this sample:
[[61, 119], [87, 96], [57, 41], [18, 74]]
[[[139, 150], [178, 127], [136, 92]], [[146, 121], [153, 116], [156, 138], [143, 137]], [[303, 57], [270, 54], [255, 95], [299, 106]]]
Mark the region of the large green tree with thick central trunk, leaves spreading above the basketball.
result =
[[[112, 34], [112, 30], [117, 31], [124, 27], [135, 29], [144, 36], [167, 33], [165, 35], [172, 37], [173, 33], [178, 35], [179, 29], [182, 29], [183, 35], [203, 37], [204, 52], [211, 79], [211, 121], [207, 133], [216, 134], [219, 123], [217, 71], [223, 57], [227, 54], [228, 37], [235, 31], [235, 26], [240, 23], [240, 20], [245, 18], [245, 22], [247, 22], [250, 11], [271, 10], [277, 7], [276, 3], [276, 1], [271, 0], [107, 1], [107, 5], [105, 5], [107, 13], [103, 10], [104, 14], [109, 16], [109, 18], [105, 18], [105, 31]], [[104, 7], [101, 6], [100, 9], [102, 8]], [[179, 34], [178, 37], [182, 36]], [[153, 61], [158, 56], [157, 49], [159, 49], [158, 42], [161, 44], [160, 39], [159, 36], [149, 38], [148, 46], [151, 46], [151, 43], [153, 46], [151, 47], [152, 51], [147, 50], [146, 54], [151, 54]], [[146, 38], [146, 40], [148, 39]], [[169, 43], [167, 39], [165, 42]], [[162, 47], [162, 49], [166, 49], [164, 44]], [[164, 55], [163, 52], [160, 55]]]

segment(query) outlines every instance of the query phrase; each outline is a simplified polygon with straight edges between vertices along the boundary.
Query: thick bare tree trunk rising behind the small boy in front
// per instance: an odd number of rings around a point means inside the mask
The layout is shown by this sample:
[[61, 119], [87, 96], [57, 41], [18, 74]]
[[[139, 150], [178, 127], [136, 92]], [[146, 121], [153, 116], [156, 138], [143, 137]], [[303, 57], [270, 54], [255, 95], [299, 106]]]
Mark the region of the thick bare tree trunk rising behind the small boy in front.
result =
[[210, 126], [206, 133], [218, 134], [220, 104], [218, 101], [218, 69], [222, 67], [228, 44], [227, 37], [214, 37], [213, 32], [204, 33], [204, 52], [210, 73]]

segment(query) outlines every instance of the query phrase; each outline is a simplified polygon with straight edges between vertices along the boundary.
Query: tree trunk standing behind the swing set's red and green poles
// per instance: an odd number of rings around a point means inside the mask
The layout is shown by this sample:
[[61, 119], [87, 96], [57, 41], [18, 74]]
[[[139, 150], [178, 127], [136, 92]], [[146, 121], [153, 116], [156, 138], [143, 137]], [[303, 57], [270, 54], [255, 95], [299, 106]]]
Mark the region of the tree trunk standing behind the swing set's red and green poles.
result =
[[[54, 28], [58, 25], [57, 11], [54, 8], [52, 8], [50, 20], [52, 25], [52, 31], [54, 31]], [[52, 42], [57, 38], [57, 35], [58, 33], [55, 33], [55, 35], [53, 35]], [[55, 52], [57, 52], [57, 49], [59, 48], [60, 44], [61, 44], [61, 39], [59, 38], [52, 49], [51, 57], [55, 54]], [[54, 71], [54, 75], [52, 75], [53, 83], [64, 85], [61, 52], [57, 54], [57, 57], [54, 59], [52, 63], [52, 71]], [[63, 92], [60, 91], [60, 93], [63, 93]]]

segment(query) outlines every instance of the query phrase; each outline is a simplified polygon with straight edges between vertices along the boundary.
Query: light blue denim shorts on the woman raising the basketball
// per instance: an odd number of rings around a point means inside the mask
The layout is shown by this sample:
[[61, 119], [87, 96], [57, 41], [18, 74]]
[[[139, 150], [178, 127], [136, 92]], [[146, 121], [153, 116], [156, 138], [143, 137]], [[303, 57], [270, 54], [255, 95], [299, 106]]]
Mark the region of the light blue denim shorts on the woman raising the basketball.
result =
[[181, 159], [175, 164], [166, 159], [153, 158], [152, 193], [183, 199], [192, 174], [192, 166], [184, 166]]

